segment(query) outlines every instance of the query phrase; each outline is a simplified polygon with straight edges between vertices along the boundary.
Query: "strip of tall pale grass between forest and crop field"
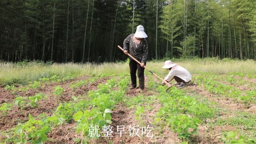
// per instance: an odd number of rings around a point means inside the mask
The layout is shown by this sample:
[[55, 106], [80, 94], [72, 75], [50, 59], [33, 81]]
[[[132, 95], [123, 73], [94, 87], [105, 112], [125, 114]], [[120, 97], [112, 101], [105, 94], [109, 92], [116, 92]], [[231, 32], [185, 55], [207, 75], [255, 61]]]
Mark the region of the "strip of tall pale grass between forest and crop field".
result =
[[[217, 58], [194, 58], [194, 59], [172, 59], [173, 62], [183, 66], [191, 74], [201, 72], [211, 72], [214, 74], [224, 74], [229, 72], [241, 72], [251, 74], [256, 71], [254, 60], [218, 60]], [[147, 67], [161, 76], [168, 73], [161, 67], [164, 60], [152, 60], [147, 63]], [[99, 76], [107, 74], [109, 76], [129, 74], [128, 62], [108, 63], [42, 63], [42, 62], [0, 62], [0, 85], [27, 84], [27, 82], [39, 80], [40, 78], [50, 78], [57, 76]]]

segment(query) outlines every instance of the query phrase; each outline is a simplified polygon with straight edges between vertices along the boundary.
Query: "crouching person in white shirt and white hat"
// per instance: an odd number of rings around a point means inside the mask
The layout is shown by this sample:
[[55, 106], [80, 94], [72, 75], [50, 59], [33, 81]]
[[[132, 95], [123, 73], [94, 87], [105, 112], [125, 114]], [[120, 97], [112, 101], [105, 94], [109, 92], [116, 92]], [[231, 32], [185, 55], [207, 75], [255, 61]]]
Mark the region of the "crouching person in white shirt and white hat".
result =
[[[170, 70], [169, 74], [164, 78], [167, 82], [172, 81], [173, 79], [176, 80], [176, 86], [178, 88], [183, 88], [185, 84], [191, 81], [191, 74], [183, 68], [182, 66], [178, 66], [177, 64], [172, 63], [170, 60], [164, 62], [164, 66], [162, 68], [166, 68]], [[162, 85], [165, 83], [163, 82]]]

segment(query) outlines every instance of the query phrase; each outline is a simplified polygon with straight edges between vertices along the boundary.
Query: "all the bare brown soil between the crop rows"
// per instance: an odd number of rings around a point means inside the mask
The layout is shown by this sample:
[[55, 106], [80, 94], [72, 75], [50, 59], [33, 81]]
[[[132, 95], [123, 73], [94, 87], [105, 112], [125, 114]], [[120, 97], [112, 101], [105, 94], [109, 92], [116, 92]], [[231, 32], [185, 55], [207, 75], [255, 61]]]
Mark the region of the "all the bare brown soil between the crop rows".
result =
[[[97, 90], [97, 85], [100, 83], [105, 83], [106, 80], [110, 79], [110, 77], [102, 78], [94, 82], [94, 84], [87, 84], [82, 86], [78, 89], [71, 89], [70, 85], [72, 83], [78, 82], [79, 80], [88, 80], [88, 76], [82, 76], [79, 78], [76, 78], [74, 80], [68, 80], [65, 82], [60, 83], [50, 83], [45, 84], [45, 87], [42, 89], [37, 90], [28, 90], [26, 93], [19, 91], [18, 95], [20, 96], [33, 96], [36, 93], [43, 92], [46, 96], [46, 100], [41, 100], [39, 102], [38, 108], [31, 109], [26, 108], [23, 111], [21, 111], [19, 108], [13, 106], [13, 110], [8, 112], [8, 115], [5, 117], [0, 118], [0, 129], [1, 130], [7, 130], [10, 128], [13, 128], [18, 122], [26, 122], [28, 120], [28, 114], [31, 114], [32, 116], [36, 117], [39, 114], [45, 113], [46, 115], [50, 116], [54, 109], [58, 106], [60, 102], [68, 102], [69, 100], [72, 100], [72, 96], [79, 96], [86, 94], [89, 90]], [[160, 81], [155, 78], [154, 81], [160, 83]], [[145, 76], [145, 82], [148, 82], [149, 78]], [[55, 86], [62, 86], [65, 90], [63, 92], [61, 97], [56, 98], [56, 96], [52, 95], [52, 92], [54, 90]], [[143, 96], [152, 96], [157, 94], [155, 92], [152, 92], [147, 87], [147, 83], [145, 84], [145, 89], [142, 92], [138, 92], [137, 89], [128, 90], [127, 96], [130, 97], [136, 97], [139, 95]], [[232, 100], [221, 97], [218, 95], [211, 94], [210, 92], [204, 90], [204, 88], [201, 88], [195, 83], [187, 84], [186, 87], [184, 87], [188, 92], [192, 91], [196, 94], [200, 94], [201, 96], [204, 96], [207, 98], [210, 102], [215, 102], [217, 104], [220, 104], [220, 106], [227, 110], [225, 114], [220, 114], [221, 118], [227, 118], [229, 116], [234, 116], [232, 113], [233, 111], [246, 111], [246, 112], [252, 112], [255, 113], [256, 106], [245, 106], [244, 104], [233, 102]], [[0, 87], [0, 103], [3, 102], [12, 102], [13, 99], [16, 97], [16, 95], [12, 94], [12, 92], [5, 90], [4, 88]], [[143, 106], [146, 106], [145, 104], [142, 104]], [[154, 135], [151, 137], [146, 136], [129, 136], [128, 129], [129, 125], [131, 126], [137, 126], [140, 125], [139, 128], [142, 128], [142, 123], [140, 123], [138, 120], [135, 119], [135, 112], [136, 108], [128, 108], [123, 102], [120, 102], [118, 105], [116, 105], [116, 108], [113, 110], [112, 113], [112, 124], [113, 126], [113, 137], [110, 138], [100, 138], [99, 140], [90, 140], [90, 143], [92, 144], [108, 144], [112, 142], [113, 144], [120, 144], [120, 143], [127, 143], [127, 144], [173, 144], [173, 143], [180, 143], [181, 141], [178, 139], [178, 136], [176, 133], [172, 132], [166, 126], [164, 128], [160, 128], [160, 126], [154, 126], [152, 125], [153, 119], [152, 117], [155, 116], [156, 112], [160, 110], [162, 107], [161, 104], [156, 100], [155, 102], [152, 102], [151, 105], [154, 109], [148, 110], [145, 108], [145, 112], [142, 116], [142, 122], [144, 123], [143, 126], [149, 126], [152, 127], [152, 134]], [[213, 120], [214, 121], [214, 120]], [[117, 126], [125, 126], [125, 131], [127, 134], [122, 135], [120, 137], [119, 134], [115, 134], [117, 132], [116, 128]], [[58, 125], [56, 128], [52, 128], [52, 130], [48, 133], [48, 138], [50, 141], [47, 142], [47, 144], [75, 144], [73, 138], [81, 138], [80, 133], [76, 133], [76, 130], [73, 129], [76, 126], [76, 122], [72, 121], [70, 124], [63, 124]], [[212, 126], [209, 127], [207, 124], [200, 124], [198, 127], [198, 135], [194, 137], [192, 142], [205, 144], [205, 143], [221, 143], [221, 140], [219, 136], [222, 136], [222, 131], [235, 131], [235, 126]], [[161, 131], [161, 132], [160, 132]], [[140, 131], [141, 135], [141, 131]], [[0, 136], [0, 139], [2, 137]], [[4, 139], [4, 138], [3, 138]]]

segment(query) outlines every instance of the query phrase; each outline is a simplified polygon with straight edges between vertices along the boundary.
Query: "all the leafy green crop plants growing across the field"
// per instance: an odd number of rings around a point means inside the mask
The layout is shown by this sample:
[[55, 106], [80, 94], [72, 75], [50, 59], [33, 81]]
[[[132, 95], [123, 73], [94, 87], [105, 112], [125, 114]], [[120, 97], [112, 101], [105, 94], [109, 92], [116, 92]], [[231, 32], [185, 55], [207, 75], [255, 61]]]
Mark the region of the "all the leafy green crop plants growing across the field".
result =
[[[136, 100], [147, 97], [148, 104], [152, 104], [154, 100], [161, 104], [160, 110], [156, 112], [153, 117], [153, 125], [155, 127], [164, 128], [168, 126], [170, 130], [175, 132], [180, 140], [184, 143], [198, 134], [198, 127], [205, 124], [207, 119], [214, 119], [218, 116], [218, 111], [214, 108], [214, 103], [204, 102], [198, 100], [190, 95], [184, 94], [184, 91], [172, 87], [168, 92], [163, 86], [159, 86], [154, 82], [152, 76], [148, 76], [148, 87], [157, 92], [157, 96], [136, 96], [128, 98]], [[52, 78], [42, 78], [40, 81], [34, 81], [31, 84], [17, 89], [14, 86], [6, 86], [6, 90], [13, 94], [18, 91], [26, 92], [30, 89], [44, 89], [45, 83], [58, 83], [66, 80], [72, 80], [74, 77], [68, 76], [61, 78], [53, 76]], [[73, 90], [79, 89], [86, 84], [94, 83], [98, 77], [92, 77], [89, 80], [80, 80], [76, 83], [70, 84]], [[205, 74], [204, 76], [194, 76], [196, 83], [214, 93], [223, 96], [236, 98], [242, 100], [244, 103], [255, 102], [254, 91], [241, 91], [234, 86], [229, 86], [219, 82], [221, 79], [217, 75]], [[233, 82], [233, 79], [228, 79], [228, 82]], [[112, 110], [120, 102], [127, 101], [127, 86], [130, 80], [127, 76], [120, 76], [107, 80], [105, 84], [99, 84], [97, 90], [90, 90], [86, 97], [72, 96], [73, 100], [69, 102], [59, 103], [58, 107], [52, 111], [52, 114], [40, 114], [37, 117], [28, 115], [28, 121], [19, 122], [13, 129], [9, 131], [8, 138], [4, 143], [31, 143], [38, 144], [48, 142], [48, 134], [52, 128], [56, 128], [63, 124], [76, 123], [74, 129], [78, 133], [78, 137], [73, 138], [77, 143], [87, 143], [91, 138], [98, 139], [102, 133], [97, 131], [93, 136], [90, 133], [90, 128], [102, 128], [112, 124]], [[64, 92], [62, 86], [56, 86], [51, 93], [56, 98], [62, 96]], [[150, 99], [152, 98], [152, 99]], [[45, 100], [47, 97], [43, 93], [35, 94], [34, 96], [18, 96], [14, 98], [13, 102], [3, 103], [0, 106], [0, 112], [3, 116], [7, 116], [8, 112], [14, 106], [18, 107], [21, 111], [25, 108], [38, 108], [40, 100]], [[128, 102], [130, 102], [128, 100]], [[141, 125], [145, 125], [143, 115], [147, 107], [136, 106], [134, 112], [135, 119]], [[223, 140], [227, 143], [255, 143], [256, 140], [246, 136], [237, 135], [237, 131], [225, 132]]]

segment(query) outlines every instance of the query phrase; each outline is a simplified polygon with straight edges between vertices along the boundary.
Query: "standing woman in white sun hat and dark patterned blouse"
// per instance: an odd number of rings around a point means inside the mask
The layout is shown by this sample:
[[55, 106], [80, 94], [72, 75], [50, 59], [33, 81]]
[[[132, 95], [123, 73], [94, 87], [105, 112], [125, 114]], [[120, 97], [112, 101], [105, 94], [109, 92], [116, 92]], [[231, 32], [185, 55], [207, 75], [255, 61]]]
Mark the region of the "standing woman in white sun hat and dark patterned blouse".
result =
[[130, 75], [132, 80], [132, 86], [130, 89], [134, 89], [137, 86], [136, 71], [138, 70], [139, 89], [137, 91], [144, 90], [144, 66], [148, 58], [148, 43], [146, 41], [147, 34], [144, 32], [142, 25], [137, 26], [135, 34], [130, 34], [124, 40], [124, 54], [128, 52], [136, 58], [141, 64], [138, 64], [135, 60], [130, 58]]

